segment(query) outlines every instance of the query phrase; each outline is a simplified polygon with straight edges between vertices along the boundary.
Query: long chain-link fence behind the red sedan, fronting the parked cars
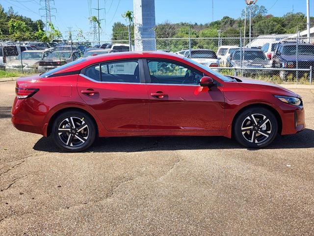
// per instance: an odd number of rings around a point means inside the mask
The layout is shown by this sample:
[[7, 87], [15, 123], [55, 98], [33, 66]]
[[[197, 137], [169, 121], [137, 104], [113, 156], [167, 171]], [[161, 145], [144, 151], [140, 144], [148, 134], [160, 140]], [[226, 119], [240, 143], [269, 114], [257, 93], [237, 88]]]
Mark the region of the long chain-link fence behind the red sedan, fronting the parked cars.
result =
[[312, 83], [314, 38], [185, 37], [97, 42], [0, 42], [0, 69], [41, 73], [81, 57], [136, 51], [181, 54], [223, 74], [275, 83]]

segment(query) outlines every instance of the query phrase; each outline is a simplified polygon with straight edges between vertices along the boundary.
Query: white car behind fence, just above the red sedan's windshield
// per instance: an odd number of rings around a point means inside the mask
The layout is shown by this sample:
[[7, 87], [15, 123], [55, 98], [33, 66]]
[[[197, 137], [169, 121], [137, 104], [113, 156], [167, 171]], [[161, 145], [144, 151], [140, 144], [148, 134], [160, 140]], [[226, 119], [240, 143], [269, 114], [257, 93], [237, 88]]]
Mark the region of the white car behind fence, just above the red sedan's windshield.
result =
[[[184, 56], [189, 57], [189, 50], [186, 50]], [[209, 49], [192, 49], [190, 59], [208, 67], [219, 66], [219, 59], [216, 53]]]

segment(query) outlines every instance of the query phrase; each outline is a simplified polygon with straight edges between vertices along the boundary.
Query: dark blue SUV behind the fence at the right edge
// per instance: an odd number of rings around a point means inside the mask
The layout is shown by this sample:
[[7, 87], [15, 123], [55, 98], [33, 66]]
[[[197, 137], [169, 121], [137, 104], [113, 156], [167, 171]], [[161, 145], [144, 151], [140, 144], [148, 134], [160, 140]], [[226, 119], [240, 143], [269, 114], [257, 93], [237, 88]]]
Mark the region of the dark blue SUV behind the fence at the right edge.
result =
[[[273, 57], [272, 67], [274, 68], [296, 68], [296, 61], [298, 59], [299, 69], [314, 68], [314, 45], [309, 43], [298, 43], [298, 57], [296, 56], [297, 44], [296, 42], [280, 43], [278, 44]], [[288, 74], [295, 73], [281, 70], [279, 72], [280, 78], [285, 80]], [[304, 72], [299, 72], [303, 76]]]

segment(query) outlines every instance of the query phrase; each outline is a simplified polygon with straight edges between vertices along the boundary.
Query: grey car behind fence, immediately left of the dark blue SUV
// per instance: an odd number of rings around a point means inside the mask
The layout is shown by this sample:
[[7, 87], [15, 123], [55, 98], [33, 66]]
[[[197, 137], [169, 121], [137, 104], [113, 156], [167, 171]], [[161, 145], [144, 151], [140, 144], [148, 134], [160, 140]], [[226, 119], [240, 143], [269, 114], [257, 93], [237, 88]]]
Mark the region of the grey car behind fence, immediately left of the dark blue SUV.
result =
[[[227, 60], [227, 67], [264, 68], [270, 66], [269, 60], [261, 49], [236, 49]], [[244, 70], [243, 72], [244, 74], [261, 73], [258, 70]], [[264, 71], [264, 73], [267, 72]]]

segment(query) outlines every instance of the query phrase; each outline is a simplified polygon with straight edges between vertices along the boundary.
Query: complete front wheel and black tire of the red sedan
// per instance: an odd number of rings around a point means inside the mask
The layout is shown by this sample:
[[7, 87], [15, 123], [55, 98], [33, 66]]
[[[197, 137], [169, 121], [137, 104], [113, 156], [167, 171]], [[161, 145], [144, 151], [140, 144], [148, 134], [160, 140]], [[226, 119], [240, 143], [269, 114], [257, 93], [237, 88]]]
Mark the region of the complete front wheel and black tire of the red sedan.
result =
[[233, 127], [238, 143], [247, 148], [264, 148], [275, 139], [278, 122], [275, 115], [263, 107], [251, 107], [242, 111]]

